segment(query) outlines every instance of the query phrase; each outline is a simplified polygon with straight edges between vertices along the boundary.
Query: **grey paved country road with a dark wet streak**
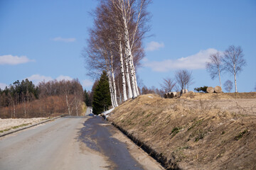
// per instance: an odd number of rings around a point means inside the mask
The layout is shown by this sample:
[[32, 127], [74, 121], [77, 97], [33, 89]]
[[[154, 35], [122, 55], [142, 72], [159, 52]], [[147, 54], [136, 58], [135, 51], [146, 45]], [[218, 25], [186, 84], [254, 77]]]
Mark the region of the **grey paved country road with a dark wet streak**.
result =
[[0, 138], [0, 169], [163, 169], [98, 116], [64, 117]]

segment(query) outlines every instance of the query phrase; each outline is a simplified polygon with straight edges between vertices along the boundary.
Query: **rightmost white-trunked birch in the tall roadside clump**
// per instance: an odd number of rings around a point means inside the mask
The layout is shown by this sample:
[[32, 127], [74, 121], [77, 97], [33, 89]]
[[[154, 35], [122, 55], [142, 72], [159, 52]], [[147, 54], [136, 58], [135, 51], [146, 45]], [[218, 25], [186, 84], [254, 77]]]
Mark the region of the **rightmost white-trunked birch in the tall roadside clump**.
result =
[[[142, 38], [146, 31], [139, 31], [145, 28], [146, 21], [146, 6], [150, 1], [146, 0], [110, 0], [114, 9], [118, 11], [120, 23], [122, 25], [122, 33], [124, 35], [124, 47], [125, 47], [125, 57], [127, 58], [127, 64], [129, 67], [129, 74], [131, 77], [132, 84], [132, 96], [137, 97], [139, 95], [139, 90], [137, 88], [137, 79], [136, 72], [134, 69], [133, 55], [132, 55], [132, 47], [135, 42], [135, 38]], [[129, 29], [129, 26], [131, 26]], [[137, 36], [141, 33], [139, 36]]]

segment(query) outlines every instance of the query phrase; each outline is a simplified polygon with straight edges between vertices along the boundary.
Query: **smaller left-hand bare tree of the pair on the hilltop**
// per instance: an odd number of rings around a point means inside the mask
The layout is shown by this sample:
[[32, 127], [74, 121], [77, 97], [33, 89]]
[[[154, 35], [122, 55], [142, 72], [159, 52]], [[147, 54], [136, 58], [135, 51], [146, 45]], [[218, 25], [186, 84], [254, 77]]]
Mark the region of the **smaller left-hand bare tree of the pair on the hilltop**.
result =
[[[210, 62], [206, 62], [206, 70], [210, 73], [210, 78], [215, 79], [215, 77], [219, 77], [220, 80], [220, 72], [223, 71], [223, 55], [220, 52], [216, 52], [213, 55], [210, 55]], [[220, 81], [221, 87], [221, 81]]]

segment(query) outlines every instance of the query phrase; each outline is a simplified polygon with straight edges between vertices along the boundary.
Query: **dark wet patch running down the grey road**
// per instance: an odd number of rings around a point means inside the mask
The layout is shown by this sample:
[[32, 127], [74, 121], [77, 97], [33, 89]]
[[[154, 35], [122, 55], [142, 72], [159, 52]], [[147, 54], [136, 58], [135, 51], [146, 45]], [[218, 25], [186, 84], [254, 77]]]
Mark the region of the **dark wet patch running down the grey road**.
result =
[[79, 140], [90, 149], [104, 154], [113, 163], [110, 169], [143, 169], [129, 154], [127, 145], [112, 137], [116, 130], [103, 118], [95, 116], [85, 121], [84, 127], [80, 130]]

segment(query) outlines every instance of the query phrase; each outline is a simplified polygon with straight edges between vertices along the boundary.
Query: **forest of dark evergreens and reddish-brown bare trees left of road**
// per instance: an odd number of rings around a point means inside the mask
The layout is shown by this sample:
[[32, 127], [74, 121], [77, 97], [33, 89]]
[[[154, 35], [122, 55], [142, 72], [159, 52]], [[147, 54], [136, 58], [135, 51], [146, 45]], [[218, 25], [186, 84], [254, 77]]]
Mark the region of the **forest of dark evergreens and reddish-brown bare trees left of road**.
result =
[[0, 89], [0, 118], [34, 118], [82, 113], [83, 90], [78, 79], [41, 81], [28, 79]]

